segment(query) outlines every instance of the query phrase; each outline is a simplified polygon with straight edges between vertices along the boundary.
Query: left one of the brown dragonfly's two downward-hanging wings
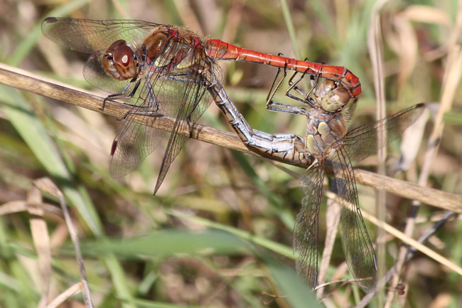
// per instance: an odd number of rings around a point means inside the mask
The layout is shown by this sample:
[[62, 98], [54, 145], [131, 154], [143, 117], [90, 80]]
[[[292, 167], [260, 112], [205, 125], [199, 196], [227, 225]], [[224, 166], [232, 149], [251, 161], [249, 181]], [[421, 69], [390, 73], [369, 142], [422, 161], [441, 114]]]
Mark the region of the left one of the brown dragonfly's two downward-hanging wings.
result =
[[316, 287], [318, 272], [318, 214], [323, 195], [323, 162], [300, 177], [305, 196], [294, 228], [294, 252], [299, 253], [296, 270], [311, 287]]

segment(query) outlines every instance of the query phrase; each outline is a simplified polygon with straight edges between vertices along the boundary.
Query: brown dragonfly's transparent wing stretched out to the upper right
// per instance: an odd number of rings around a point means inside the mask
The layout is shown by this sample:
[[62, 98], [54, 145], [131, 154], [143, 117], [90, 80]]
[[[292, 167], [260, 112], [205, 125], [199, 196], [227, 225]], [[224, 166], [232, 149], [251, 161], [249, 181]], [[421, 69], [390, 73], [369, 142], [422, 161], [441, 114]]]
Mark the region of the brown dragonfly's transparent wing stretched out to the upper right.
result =
[[[345, 137], [345, 151], [350, 159], [361, 161], [367, 156], [377, 153], [387, 143], [399, 138], [404, 130], [414, 123], [424, 112], [424, 104], [414, 105], [385, 119], [370, 122], [348, 132]], [[382, 127], [385, 137], [378, 137], [377, 129]]]

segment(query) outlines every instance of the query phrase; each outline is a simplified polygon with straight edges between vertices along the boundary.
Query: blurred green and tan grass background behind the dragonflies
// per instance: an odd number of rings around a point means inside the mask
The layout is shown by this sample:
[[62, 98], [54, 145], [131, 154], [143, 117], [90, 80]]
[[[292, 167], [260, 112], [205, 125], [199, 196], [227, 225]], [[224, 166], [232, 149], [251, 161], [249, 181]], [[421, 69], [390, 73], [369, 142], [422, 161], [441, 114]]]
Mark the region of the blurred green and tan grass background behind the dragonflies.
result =
[[[419, 102], [435, 102], [432, 106], [438, 110], [441, 89], [448, 83], [446, 65], [451, 36], [458, 33], [459, 5], [422, 0], [387, 1], [383, 6], [389, 114]], [[362, 83], [351, 125], [356, 127], [374, 120], [376, 110], [366, 43], [374, 6], [372, 0], [2, 0], [0, 62], [95, 90], [82, 77], [87, 55], [43, 37], [40, 24], [45, 17], [131, 18], [186, 26], [205, 38], [251, 50], [346, 66]], [[304, 134], [303, 117], [265, 110], [276, 68], [220, 65], [226, 72], [225, 90], [254, 129]], [[453, 82], [458, 84], [458, 79]], [[461, 194], [460, 88], [453, 96], [427, 185]], [[200, 123], [230, 130], [214, 105]], [[129, 176], [109, 177], [109, 150], [121, 124], [97, 112], [0, 86], [0, 203], [26, 200], [34, 179], [50, 176], [55, 181], [83, 242], [96, 307], [264, 307], [273, 297], [262, 292], [288, 296], [269, 307], [314, 307], [308, 287], [296, 278], [291, 253], [294, 218], [303, 198], [298, 179], [264, 159], [189, 140], [152, 198], [163, 148]], [[400, 179], [417, 182], [430, 132], [431, 121], [416, 162]], [[375, 170], [375, 159], [362, 164]], [[375, 190], [358, 186], [358, 191], [362, 211], [375, 213]], [[387, 223], [402, 230], [411, 201], [387, 197]], [[325, 205], [323, 200], [320, 250]], [[414, 238], [431, 228], [441, 213], [421, 206]], [[0, 307], [37, 307], [41, 299], [44, 285], [30, 218], [26, 212], [0, 217]], [[53, 299], [80, 277], [65, 223], [55, 217], [45, 220], [53, 252]], [[366, 223], [375, 241], [376, 228]], [[453, 220], [428, 245], [460, 265], [461, 234], [461, 223]], [[400, 244], [387, 238], [389, 267]], [[328, 281], [351, 278], [338, 240]], [[461, 277], [426, 255], [418, 253], [404, 267], [402, 281], [407, 293], [394, 298], [392, 307], [461, 307]], [[360, 297], [358, 287], [346, 285], [323, 303], [350, 307]], [[83, 307], [81, 300], [79, 295], [60, 307]]]

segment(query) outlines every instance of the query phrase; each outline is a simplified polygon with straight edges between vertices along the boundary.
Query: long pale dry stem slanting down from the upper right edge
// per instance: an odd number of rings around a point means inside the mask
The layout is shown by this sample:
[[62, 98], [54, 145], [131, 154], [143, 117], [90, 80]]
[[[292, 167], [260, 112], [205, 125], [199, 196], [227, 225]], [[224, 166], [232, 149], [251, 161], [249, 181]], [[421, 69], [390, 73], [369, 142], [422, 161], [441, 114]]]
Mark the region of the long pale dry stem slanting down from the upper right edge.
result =
[[[444, 84], [441, 92], [441, 100], [438, 115], [436, 115], [435, 124], [429, 138], [429, 147], [426, 151], [424, 165], [421, 169], [419, 176], [419, 185], [426, 186], [428, 177], [433, 166], [436, 152], [439, 147], [439, 140], [443, 135], [444, 122], [443, 116], [446, 112], [451, 110], [452, 102], [456, 94], [456, 88], [458, 87], [461, 80], [461, 67], [462, 67], [462, 48], [459, 43], [459, 38], [462, 33], [462, 1], [458, 1], [458, 14], [456, 17], [456, 25], [451, 33], [451, 40], [448, 47], [448, 58], [446, 62], [446, 70], [444, 72]], [[419, 211], [420, 202], [413, 202], [412, 217], [407, 221], [404, 233], [409, 237], [412, 235], [415, 225], [415, 219], [417, 212]], [[397, 271], [393, 277], [391, 287], [396, 287], [399, 283], [399, 274], [402, 271], [404, 261], [407, 255], [407, 247], [402, 247], [399, 250], [399, 256], [397, 260]], [[392, 304], [392, 300], [395, 293], [388, 292], [387, 302], [385, 308], [388, 308]]]

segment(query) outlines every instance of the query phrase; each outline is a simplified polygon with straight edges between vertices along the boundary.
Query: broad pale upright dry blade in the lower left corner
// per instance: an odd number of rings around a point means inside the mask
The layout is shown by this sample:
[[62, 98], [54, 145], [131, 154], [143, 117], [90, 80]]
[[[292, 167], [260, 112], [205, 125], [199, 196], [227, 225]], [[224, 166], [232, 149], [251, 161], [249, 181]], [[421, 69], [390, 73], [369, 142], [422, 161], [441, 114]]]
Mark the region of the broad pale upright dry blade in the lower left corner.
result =
[[[42, 203], [41, 192], [32, 186], [27, 194], [28, 203]], [[51, 249], [50, 249], [50, 234], [48, 228], [43, 219], [42, 208], [28, 208], [28, 212], [31, 214], [31, 233], [33, 238], [33, 244], [36, 246], [38, 265], [42, 275], [42, 297], [38, 303], [38, 308], [45, 308], [48, 304], [48, 294], [50, 293], [50, 281], [51, 281]]]

